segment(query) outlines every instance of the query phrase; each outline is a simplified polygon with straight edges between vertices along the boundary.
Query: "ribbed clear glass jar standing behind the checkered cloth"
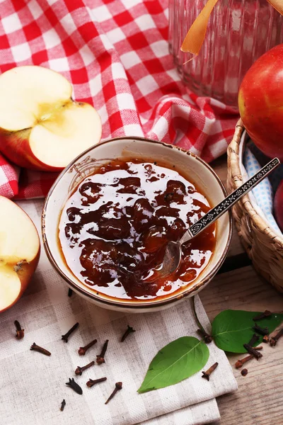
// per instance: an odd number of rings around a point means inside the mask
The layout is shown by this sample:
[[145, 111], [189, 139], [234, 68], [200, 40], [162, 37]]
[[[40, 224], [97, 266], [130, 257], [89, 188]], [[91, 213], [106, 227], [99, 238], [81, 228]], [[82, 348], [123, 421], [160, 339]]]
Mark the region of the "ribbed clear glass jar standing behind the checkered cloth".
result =
[[283, 42], [283, 16], [267, 0], [219, 0], [209, 18], [200, 55], [180, 46], [207, 0], [169, 0], [169, 49], [187, 86], [237, 108], [238, 88], [248, 68]]

